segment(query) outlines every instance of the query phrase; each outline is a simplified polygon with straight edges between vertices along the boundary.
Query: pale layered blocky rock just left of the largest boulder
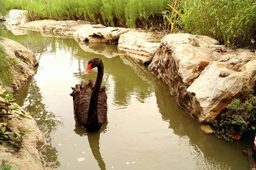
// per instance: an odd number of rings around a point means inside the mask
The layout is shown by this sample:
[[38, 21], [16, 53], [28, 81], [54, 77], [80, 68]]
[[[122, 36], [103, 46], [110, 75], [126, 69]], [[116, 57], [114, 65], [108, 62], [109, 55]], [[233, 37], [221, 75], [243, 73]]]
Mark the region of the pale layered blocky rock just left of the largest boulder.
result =
[[150, 33], [132, 30], [120, 36], [118, 49], [142, 63], [150, 63], [160, 45], [152, 39]]

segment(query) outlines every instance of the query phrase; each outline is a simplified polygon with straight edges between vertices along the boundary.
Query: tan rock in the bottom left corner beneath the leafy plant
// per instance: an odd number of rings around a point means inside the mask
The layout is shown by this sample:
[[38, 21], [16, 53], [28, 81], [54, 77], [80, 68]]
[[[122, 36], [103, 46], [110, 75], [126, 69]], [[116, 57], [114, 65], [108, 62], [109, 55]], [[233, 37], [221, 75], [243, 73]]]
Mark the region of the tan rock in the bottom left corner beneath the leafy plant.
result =
[[[1, 88], [1, 87], [0, 87]], [[15, 105], [17, 105], [15, 103]], [[22, 114], [21, 108], [16, 111]], [[24, 111], [26, 113], [26, 111]], [[14, 127], [13, 131], [18, 131], [18, 128], [25, 128], [29, 126], [31, 130], [29, 136], [23, 139], [18, 146], [11, 144], [9, 148], [5, 148], [3, 144], [0, 144], [0, 164], [11, 164], [13, 167], [17, 167], [18, 170], [45, 170], [43, 160], [38, 151], [44, 145], [44, 136], [38, 129], [35, 120], [31, 119], [14, 119], [14, 122], [9, 122], [9, 125]]]

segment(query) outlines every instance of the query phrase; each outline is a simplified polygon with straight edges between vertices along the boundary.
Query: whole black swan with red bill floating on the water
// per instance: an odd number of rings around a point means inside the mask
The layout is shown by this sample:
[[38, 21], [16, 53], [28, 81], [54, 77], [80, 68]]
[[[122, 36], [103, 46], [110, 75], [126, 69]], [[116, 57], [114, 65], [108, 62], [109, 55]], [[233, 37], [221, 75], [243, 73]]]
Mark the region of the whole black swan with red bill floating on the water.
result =
[[98, 68], [96, 82], [89, 79], [88, 84], [81, 82], [72, 88], [74, 115], [79, 125], [90, 132], [97, 132], [107, 119], [107, 94], [105, 87], [101, 87], [104, 66], [101, 59], [93, 57], [89, 60], [84, 75], [93, 68]]

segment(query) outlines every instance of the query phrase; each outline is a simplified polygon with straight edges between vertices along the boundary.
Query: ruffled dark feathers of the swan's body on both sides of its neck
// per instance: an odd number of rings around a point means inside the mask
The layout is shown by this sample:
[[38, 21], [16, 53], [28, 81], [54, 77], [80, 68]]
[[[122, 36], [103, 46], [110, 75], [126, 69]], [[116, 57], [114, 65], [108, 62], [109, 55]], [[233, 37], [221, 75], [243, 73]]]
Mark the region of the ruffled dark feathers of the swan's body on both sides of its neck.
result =
[[[87, 115], [90, 105], [90, 98], [94, 88], [95, 82], [89, 79], [88, 83], [81, 82], [72, 88], [73, 92], [70, 96], [73, 96], [74, 115], [79, 125], [85, 127], [87, 122]], [[105, 93], [105, 87], [101, 87], [98, 97], [98, 119], [99, 125], [103, 125], [107, 119], [107, 94]]]

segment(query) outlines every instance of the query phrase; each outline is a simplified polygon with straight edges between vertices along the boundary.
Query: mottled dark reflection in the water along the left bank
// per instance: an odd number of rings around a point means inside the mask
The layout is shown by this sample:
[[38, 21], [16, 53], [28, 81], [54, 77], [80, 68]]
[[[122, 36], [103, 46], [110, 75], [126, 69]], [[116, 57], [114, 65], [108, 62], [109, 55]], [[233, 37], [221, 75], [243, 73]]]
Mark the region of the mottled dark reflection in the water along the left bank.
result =
[[[20, 91], [23, 93], [19, 94]], [[30, 82], [22, 86], [16, 94], [17, 96], [15, 98], [17, 103], [21, 107], [24, 105], [24, 108], [30, 113], [35, 113], [36, 115], [34, 116], [34, 119], [40, 118], [40, 120], [36, 122], [38, 128], [42, 131], [46, 139], [46, 144], [40, 150], [46, 161], [46, 166], [52, 168], [59, 167], [60, 162], [57, 161], [57, 150], [50, 144], [52, 140], [50, 133], [57, 129], [57, 125], [60, 124], [60, 122], [55, 120], [55, 114], [47, 111], [46, 106], [42, 103], [43, 97], [41, 96], [40, 88], [36, 85], [36, 81], [31, 79]]]

